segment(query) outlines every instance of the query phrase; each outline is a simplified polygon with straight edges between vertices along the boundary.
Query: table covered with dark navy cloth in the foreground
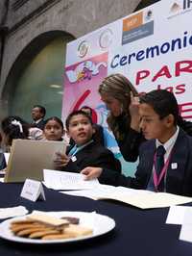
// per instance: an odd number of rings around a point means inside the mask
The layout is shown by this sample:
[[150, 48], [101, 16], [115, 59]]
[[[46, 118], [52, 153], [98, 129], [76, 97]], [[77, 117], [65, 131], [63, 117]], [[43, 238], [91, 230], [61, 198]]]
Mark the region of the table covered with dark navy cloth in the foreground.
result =
[[23, 184], [0, 183], [0, 208], [24, 205], [29, 211], [96, 211], [114, 218], [108, 234], [78, 243], [23, 244], [0, 239], [0, 255], [188, 256], [192, 243], [179, 240], [180, 225], [167, 225], [168, 208], [140, 210], [114, 201], [94, 201], [44, 188], [46, 201], [20, 197]]

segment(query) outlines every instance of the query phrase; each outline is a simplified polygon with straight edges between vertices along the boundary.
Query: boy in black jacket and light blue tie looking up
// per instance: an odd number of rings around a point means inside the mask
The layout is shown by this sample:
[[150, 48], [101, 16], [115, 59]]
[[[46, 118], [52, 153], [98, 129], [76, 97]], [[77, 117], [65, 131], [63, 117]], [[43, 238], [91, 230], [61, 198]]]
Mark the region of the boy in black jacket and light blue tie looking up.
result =
[[80, 172], [84, 167], [96, 166], [121, 172], [121, 164], [113, 153], [94, 141], [94, 128], [90, 115], [83, 111], [75, 111], [68, 115], [65, 126], [75, 145], [67, 148], [66, 155], [57, 153], [56, 168]]

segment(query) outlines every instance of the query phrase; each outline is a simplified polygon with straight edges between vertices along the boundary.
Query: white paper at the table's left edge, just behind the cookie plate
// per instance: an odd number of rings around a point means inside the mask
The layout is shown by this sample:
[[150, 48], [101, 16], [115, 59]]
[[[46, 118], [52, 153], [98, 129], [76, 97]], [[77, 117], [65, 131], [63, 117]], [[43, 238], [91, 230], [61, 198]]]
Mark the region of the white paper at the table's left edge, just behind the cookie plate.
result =
[[0, 208], [0, 218], [11, 218], [16, 216], [24, 216], [28, 210], [24, 206], [16, 206], [10, 208]]

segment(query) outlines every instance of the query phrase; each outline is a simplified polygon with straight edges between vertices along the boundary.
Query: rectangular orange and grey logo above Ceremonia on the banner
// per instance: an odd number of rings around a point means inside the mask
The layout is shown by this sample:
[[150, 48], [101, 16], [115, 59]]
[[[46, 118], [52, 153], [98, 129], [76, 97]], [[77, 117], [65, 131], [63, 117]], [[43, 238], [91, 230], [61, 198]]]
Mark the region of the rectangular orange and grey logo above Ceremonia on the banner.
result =
[[137, 13], [123, 19], [122, 45], [153, 35], [154, 20], [152, 17], [152, 10], [148, 10], [146, 13]]

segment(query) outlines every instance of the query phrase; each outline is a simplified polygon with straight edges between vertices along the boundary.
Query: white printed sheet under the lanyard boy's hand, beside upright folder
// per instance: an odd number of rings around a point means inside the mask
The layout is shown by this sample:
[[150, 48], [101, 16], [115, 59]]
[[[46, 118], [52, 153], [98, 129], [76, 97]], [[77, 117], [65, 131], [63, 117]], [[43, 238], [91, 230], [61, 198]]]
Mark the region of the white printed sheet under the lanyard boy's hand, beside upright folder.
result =
[[54, 190], [84, 190], [92, 189], [99, 184], [98, 179], [84, 181], [84, 175], [80, 173], [43, 169], [43, 184]]

